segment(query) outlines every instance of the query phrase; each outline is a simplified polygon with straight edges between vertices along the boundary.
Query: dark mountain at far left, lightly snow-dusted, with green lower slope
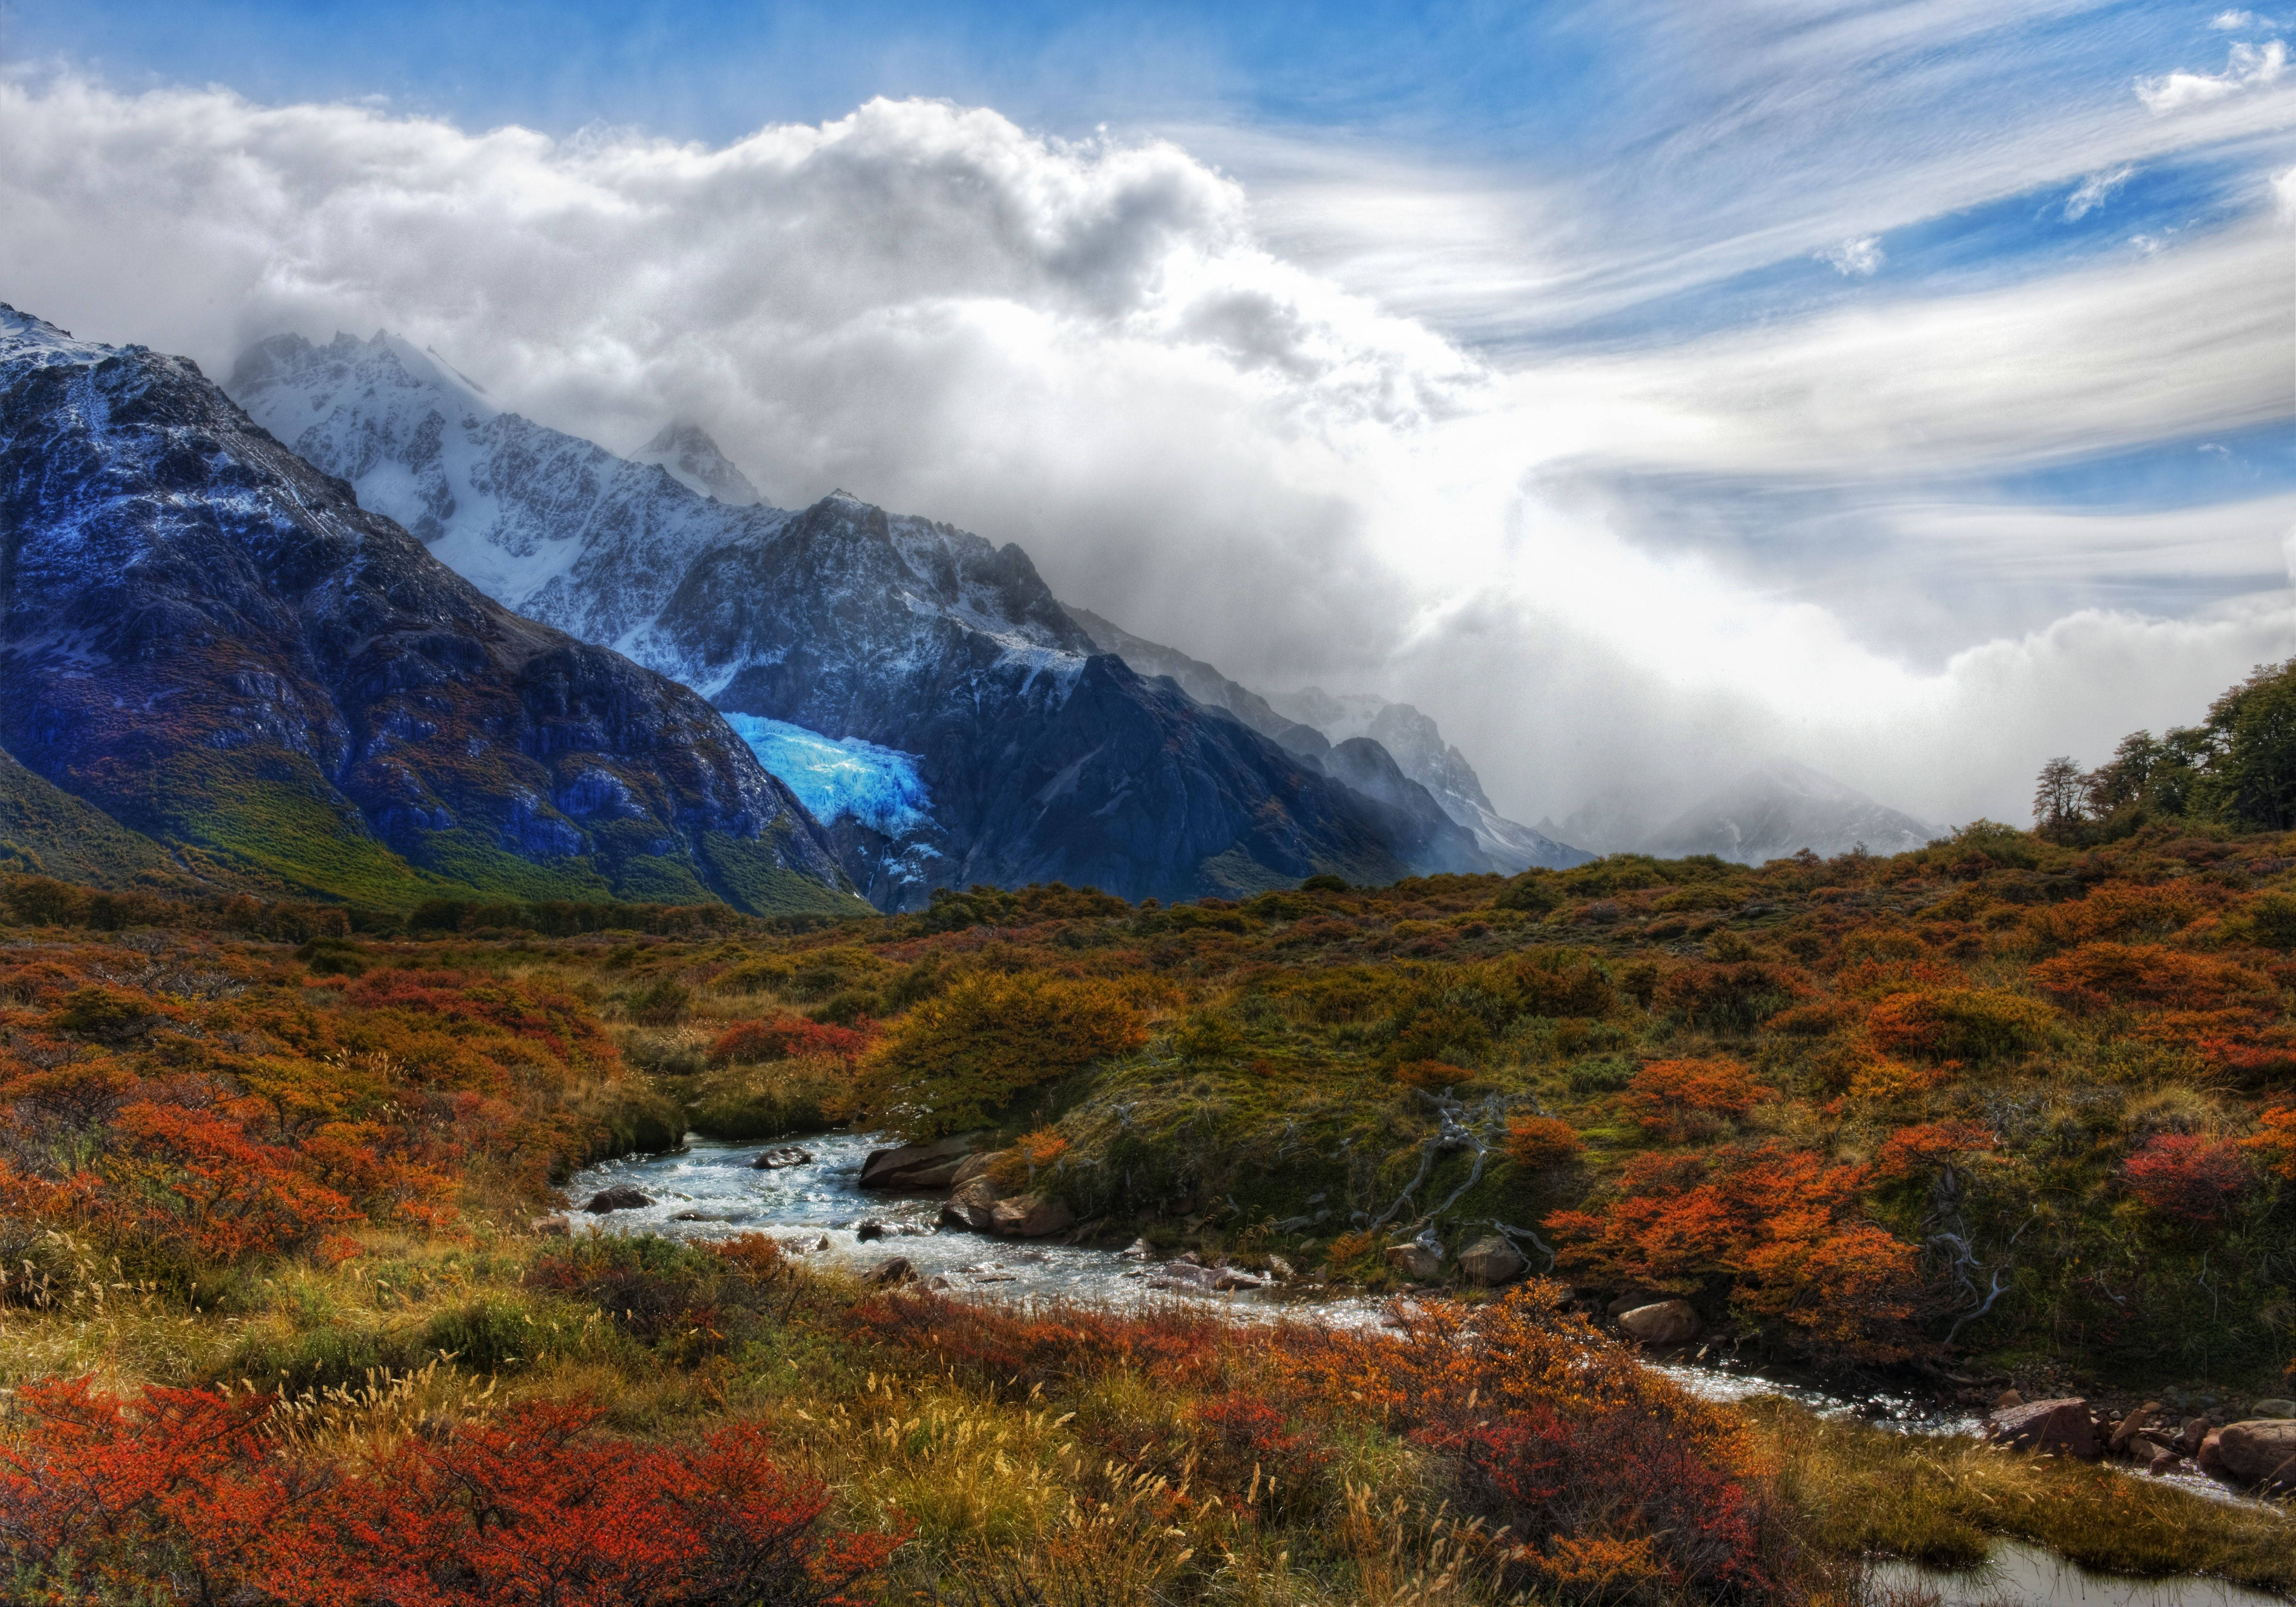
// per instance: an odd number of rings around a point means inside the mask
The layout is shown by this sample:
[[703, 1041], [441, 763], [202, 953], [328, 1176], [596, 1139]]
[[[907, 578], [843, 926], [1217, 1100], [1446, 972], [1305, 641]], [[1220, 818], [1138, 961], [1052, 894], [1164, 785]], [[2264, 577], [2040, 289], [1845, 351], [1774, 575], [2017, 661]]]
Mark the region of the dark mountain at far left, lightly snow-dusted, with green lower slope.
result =
[[[445, 544], [450, 494], [395, 484]], [[69, 794], [186, 877], [854, 907], [703, 698], [491, 601], [188, 360], [11, 308], [0, 684], [11, 815]]]

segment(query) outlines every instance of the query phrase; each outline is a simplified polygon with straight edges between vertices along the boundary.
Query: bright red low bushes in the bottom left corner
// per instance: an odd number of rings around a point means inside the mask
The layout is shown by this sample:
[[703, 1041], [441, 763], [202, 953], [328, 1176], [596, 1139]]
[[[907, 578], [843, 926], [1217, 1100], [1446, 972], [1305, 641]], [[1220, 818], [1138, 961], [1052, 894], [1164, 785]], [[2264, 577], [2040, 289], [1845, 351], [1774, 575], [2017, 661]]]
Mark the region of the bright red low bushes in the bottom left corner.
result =
[[654, 1446], [528, 1403], [354, 1462], [285, 1437], [273, 1405], [18, 1389], [0, 1433], [18, 1600], [810, 1607], [850, 1600], [898, 1545], [827, 1527], [829, 1492], [751, 1423]]

